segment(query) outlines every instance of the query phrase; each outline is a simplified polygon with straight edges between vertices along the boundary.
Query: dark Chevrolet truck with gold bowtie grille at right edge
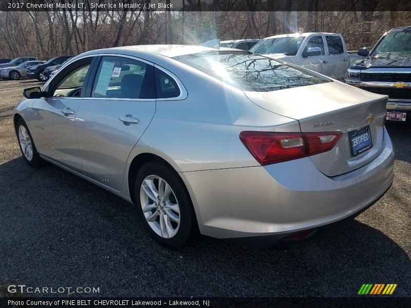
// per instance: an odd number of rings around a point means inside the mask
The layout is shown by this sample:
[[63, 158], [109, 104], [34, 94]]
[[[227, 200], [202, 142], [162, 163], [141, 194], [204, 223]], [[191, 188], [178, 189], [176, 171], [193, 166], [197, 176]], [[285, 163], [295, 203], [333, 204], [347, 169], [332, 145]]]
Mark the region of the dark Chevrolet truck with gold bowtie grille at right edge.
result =
[[387, 120], [411, 122], [411, 26], [392, 29], [347, 70], [345, 82], [388, 95]]

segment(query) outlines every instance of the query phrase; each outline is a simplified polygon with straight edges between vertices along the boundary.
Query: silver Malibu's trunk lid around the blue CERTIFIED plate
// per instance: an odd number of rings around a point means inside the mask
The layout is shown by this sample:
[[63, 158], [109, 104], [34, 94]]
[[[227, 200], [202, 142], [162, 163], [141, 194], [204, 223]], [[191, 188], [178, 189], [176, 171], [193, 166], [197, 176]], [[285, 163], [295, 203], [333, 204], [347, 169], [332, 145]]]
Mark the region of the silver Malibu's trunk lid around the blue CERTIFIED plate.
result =
[[[256, 105], [297, 120], [302, 132], [343, 132], [333, 149], [309, 157], [326, 176], [338, 176], [357, 169], [382, 151], [386, 95], [340, 82], [271, 92], [245, 91], [245, 94]], [[349, 132], [366, 126], [369, 126], [372, 147], [353, 156]]]

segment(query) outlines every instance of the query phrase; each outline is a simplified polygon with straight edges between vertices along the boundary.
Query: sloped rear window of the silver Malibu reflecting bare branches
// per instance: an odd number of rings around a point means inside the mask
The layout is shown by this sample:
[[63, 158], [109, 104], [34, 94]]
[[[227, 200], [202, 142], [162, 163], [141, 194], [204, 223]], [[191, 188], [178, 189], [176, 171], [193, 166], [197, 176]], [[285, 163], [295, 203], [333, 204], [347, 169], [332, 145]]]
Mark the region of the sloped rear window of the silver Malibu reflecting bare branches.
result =
[[328, 82], [306, 70], [247, 51], [207, 51], [173, 59], [243, 91], [268, 92]]

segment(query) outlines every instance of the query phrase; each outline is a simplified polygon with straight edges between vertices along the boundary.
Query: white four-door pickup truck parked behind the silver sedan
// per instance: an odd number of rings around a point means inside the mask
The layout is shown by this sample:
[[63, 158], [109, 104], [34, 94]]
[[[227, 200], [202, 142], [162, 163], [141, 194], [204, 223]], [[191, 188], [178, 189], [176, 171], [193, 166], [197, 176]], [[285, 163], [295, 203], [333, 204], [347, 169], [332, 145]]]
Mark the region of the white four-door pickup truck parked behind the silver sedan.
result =
[[325, 32], [270, 36], [255, 44], [250, 51], [338, 80], [344, 80], [348, 67], [362, 57], [357, 51], [347, 51], [341, 34]]

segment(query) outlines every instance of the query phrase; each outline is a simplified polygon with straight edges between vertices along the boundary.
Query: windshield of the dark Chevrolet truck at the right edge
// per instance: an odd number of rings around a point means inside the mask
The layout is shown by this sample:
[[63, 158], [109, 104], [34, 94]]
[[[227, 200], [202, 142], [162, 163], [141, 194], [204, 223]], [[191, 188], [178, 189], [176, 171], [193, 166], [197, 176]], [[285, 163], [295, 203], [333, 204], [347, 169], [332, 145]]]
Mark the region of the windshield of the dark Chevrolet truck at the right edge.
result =
[[372, 51], [371, 55], [385, 57], [391, 53], [398, 55], [411, 54], [411, 31], [388, 33]]

